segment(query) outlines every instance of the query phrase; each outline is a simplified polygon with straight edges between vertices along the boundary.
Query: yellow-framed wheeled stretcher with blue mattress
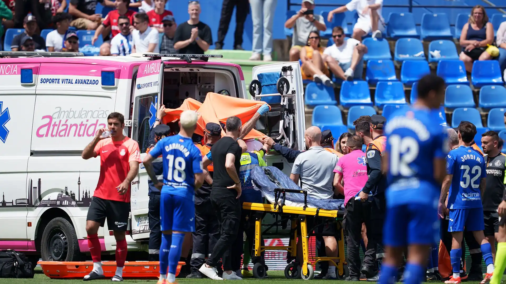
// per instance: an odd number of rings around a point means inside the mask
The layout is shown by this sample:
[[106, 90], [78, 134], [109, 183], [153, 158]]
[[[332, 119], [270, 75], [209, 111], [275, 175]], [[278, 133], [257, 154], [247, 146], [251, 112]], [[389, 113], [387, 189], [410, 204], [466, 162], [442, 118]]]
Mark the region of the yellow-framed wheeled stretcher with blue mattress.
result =
[[[328, 261], [335, 265], [336, 276], [345, 277], [345, 255], [343, 234], [343, 201], [316, 200], [308, 197], [307, 192], [301, 190], [285, 174], [275, 167], [257, 166], [251, 171], [255, 190], [271, 204], [244, 202], [242, 208], [251, 211], [251, 218], [255, 220], [255, 246], [251, 261], [254, 263], [252, 273], [256, 278], [267, 275], [267, 267], [262, 261], [262, 252], [266, 250], [285, 250], [287, 263], [285, 276], [288, 279], [302, 278], [305, 280], [314, 277], [314, 265], [320, 261]], [[291, 183], [290, 183], [291, 182]], [[269, 184], [270, 183], [270, 184]], [[326, 209], [315, 206], [326, 207]], [[334, 207], [335, 209], [329, 209]], [[274, 221], [267, 224], [266, 215], [272, 215]], [[308, 221], [312, 227], [308, 227]], [[288, 226], [288, 222], [290, 222]], [[330, 236], [330, 234], [314, 233], [313, 231], [324, 225], [335, 226], [334, 235], [338, 242], [338, 257], [317, 257], [313, 262], [309, 259], [309, 237], [312, 235]], [[264, 227], [264, 228], [263, 228]], [[281, 227], [289, 230], [283, 231]], [[273, 233], [274, 231], [274, 233]], [[275, 236], [274, 236], [275, 235]], [[290, 241], [288, 246], [262, 246], [262, 238], [286, 238]], [[302, 241], [302, 258], [298, 257], [297, 239]], [[301, 263], [302, 262], [302, 263]]]

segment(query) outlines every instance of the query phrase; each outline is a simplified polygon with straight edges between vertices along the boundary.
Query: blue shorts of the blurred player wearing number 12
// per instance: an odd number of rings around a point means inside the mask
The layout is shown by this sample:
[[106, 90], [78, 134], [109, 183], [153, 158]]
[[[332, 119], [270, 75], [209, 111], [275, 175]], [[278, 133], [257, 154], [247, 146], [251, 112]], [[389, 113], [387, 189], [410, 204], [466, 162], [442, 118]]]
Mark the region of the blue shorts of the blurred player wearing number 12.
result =
[[437, 208], [403, 204], [387, 208], [383, 243], [391, 247], [434, 245], [439, 242]]

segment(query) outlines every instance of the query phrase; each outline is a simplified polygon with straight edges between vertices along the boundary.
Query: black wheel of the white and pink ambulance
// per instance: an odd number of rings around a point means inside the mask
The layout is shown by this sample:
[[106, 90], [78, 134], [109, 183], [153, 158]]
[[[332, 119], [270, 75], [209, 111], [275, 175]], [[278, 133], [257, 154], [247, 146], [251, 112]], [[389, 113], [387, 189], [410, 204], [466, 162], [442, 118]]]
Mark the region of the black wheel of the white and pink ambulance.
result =
[[65, 218], [49, 221], [42, 234], [40, 254], [43, 261], [78, 261], [79, 244], [74, 226]]

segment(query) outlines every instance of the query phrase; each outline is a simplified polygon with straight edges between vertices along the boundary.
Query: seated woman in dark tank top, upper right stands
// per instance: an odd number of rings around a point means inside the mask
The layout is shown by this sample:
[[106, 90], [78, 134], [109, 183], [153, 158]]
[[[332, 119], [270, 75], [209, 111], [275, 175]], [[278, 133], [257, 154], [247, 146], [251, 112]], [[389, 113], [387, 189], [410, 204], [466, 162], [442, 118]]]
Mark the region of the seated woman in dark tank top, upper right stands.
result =
[[469, 21], [462, 27], [460, 34], [460, 46], [462, 52], [459, 59], [466, 65], [466, 70], [471, 72], [475, 60], [490, 60], [492, 56], [485, 52], [487, 44], [494, 41], [494, 28], [488, 21], [487, 12], [481, 5], [476, 5], [471, 10]]

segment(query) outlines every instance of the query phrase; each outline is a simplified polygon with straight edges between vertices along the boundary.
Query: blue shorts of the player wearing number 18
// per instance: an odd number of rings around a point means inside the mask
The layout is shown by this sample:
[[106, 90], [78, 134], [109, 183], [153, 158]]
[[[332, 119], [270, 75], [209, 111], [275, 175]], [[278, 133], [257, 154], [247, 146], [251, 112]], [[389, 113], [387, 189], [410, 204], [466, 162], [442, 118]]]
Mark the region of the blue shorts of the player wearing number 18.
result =
[[162, 231], [195, 231], [193, 200], [162, 192], [160, 194], [160, 228]]

